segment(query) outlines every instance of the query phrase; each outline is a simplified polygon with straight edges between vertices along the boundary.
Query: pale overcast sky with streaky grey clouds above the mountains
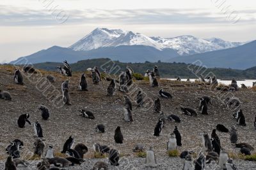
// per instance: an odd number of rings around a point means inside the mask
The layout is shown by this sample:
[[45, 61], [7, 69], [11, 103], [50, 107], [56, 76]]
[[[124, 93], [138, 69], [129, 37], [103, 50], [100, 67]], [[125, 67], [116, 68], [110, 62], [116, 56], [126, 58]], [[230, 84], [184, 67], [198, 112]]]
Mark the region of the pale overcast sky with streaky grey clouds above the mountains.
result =
[[0, 1], [0, 62], [68, 47], [97, 27], [147, 36], [256, 39], [255, 0]]

